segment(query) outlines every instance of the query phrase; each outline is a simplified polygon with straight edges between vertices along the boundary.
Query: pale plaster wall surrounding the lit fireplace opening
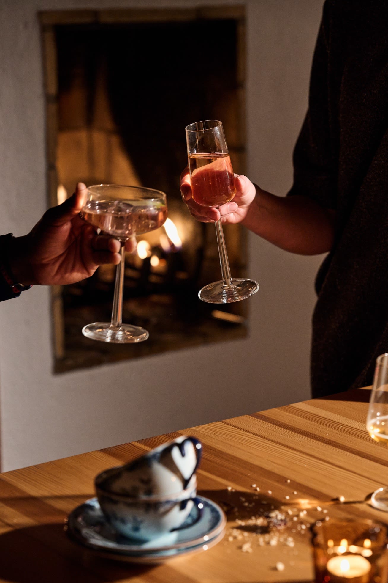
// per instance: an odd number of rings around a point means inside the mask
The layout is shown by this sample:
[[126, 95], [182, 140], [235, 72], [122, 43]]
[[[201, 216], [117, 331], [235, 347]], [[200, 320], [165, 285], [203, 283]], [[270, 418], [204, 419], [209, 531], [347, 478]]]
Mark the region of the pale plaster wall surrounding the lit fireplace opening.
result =
[[[37, 11], [202, 5], [203, 0], [0, 1], [0, 232], [26, 233], [46, 207]], [[232, 4], [233, 0], [211, 0]], [[322, 0], [247, 0], [249, 175], [292, 181]], [[0, 305], [2, 470], [225, 419], [309, 396], [313, 278], [321, 258], [249, 237], [248, 339], [53, 375], [49, 290]]]

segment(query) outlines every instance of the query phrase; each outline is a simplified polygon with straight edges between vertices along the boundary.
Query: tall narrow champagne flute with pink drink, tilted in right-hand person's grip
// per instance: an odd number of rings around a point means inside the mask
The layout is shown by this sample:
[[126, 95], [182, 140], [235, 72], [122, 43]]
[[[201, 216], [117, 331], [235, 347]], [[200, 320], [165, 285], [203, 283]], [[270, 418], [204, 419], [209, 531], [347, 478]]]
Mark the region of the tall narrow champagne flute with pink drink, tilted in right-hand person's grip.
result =
[[[197, 204], [218, 208], [236, 194], [234, 174], [223, 124], [216, 120], [197, 121], [186, 127], [186, 142], [192, 198]], [[232, 279], [221, 220], [216, 222], [222, 280], [199, 291], [200, 300], [228, 304], [245, 300], [259, 290], [252, 279]]]

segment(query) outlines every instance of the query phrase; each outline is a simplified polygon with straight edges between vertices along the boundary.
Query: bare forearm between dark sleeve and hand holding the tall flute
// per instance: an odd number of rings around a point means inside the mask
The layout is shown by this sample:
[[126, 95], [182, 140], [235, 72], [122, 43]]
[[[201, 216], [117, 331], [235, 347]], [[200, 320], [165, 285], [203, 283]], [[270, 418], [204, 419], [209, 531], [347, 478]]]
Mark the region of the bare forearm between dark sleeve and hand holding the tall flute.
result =
[[292, 253], [316, 255], [331, 250], [334, 210], [306, 196], [275, 196], [259, 187], [256, 192], [242, 221], [245, 227]]

